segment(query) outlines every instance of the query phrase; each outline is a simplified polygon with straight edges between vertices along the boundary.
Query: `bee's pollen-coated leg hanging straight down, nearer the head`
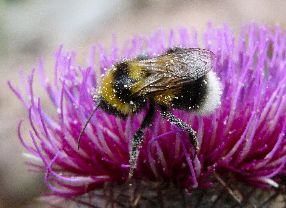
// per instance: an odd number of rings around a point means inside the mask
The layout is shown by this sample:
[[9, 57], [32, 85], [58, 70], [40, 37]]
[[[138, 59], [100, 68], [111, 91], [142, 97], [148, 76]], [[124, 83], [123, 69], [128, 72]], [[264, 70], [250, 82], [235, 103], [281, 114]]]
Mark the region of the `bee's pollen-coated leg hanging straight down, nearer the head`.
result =
[[128, 179], [127, 179], [126, 183], [129, 183], [129, 181], [133, 175], [133, 171], [136, 168], [137, 159], [138, 159], [139, 152], [140, 152], [139, 149], [142, 147], [141, 144], [142, 144], [144, 136], [145, 136], [143, 130], [148, 125], [150, 125], [152, 123], [152, 121], [153, 121], [152, 117], [154, 115], [154, 112], [155, 112], [154, 105], [150, 104], [149, 109], [146, 113], [146, 116], [140, 125], [140, 128], [135, 132], [135, 134], [132, 137], [132, 140], [131, 140], [132, 147], [131, 147], [131, 151], [130, 151], [130, 160], [129, 160], [130, 172], [129, 172]]

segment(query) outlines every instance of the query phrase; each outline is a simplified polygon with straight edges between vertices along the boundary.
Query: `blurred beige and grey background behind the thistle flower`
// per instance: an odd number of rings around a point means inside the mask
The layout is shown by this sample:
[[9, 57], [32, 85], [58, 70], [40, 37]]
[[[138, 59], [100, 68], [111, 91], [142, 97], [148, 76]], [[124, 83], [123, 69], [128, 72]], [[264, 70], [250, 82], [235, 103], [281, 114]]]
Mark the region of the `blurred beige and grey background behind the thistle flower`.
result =
[[[158, 27], [168, 32], [178, 25], [195, 27], [200, 37], [211, 20], [216, 27], [228, 23], [238, 34], [242, 23], [279, 23], [286, 27], [286, 1], [175, 1], [175, 0], [0, 0], [0, 207], [49, 207], [35, 199], [48, 191], [44, 174], [28, 172], [23, 164], [27, 152], [19, 142], [17, 125], [24, 118], [21, 132], [27, 143], [27, 110], [7, 86], [20, 83], [19, 68], [25, 77], [44, 57], [47, 76], [53, 79], [53, 52], [77, 51], [77, 64], [85, 66], [91, 44], [102, 43], [106, 49], [116, 32], [119, 48], [134, 34], [151, 35]], [[108, 50], [107, 50], [108, 51]], [[35, 94], [45, 95], [37, 82]], [[41, 96], [42, 108], [51, 108]], [[53, 114], [55, 112], [51, 112]], [[29, 159], [28, 159], [29, 160]]]

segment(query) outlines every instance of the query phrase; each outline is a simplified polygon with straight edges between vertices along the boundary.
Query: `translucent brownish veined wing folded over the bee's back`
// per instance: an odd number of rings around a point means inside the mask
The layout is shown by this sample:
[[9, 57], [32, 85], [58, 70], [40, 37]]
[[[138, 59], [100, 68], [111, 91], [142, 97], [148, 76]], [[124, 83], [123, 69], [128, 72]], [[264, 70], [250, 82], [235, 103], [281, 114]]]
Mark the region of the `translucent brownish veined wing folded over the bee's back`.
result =
[[148, 94], [182, 86], [207, 74], [214, 60], [213, 52], [190, 48], [140, 61], [148, 76], [135, 91]]

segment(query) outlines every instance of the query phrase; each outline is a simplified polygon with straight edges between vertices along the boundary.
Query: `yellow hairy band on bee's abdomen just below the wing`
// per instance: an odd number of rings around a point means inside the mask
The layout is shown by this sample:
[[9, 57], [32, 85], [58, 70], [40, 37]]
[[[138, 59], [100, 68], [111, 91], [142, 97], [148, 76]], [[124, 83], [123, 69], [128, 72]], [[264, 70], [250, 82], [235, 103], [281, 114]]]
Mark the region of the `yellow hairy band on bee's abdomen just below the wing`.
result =
[[170, 106], [172, 104], [172, 100], [178, 99], [178, 94], [180, 94], [179, 88], [164, 90], [154, 93], [154, 100], [156, 100], [158, 104]]

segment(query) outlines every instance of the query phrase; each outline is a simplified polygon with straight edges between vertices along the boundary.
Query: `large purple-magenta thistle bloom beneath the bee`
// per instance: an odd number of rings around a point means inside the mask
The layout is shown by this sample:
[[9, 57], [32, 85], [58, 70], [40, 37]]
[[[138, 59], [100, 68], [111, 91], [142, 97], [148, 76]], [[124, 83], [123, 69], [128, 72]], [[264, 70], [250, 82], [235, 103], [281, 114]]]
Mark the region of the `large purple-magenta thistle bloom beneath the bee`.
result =
[[[179, 187], [197, 193], [198, 188], [217, 187], [216, 181], [220, 182], [219, 187], [227, 186], [224, 181], [229, 178], [250, 187], [279, 187], [279, 177], [286, 174], [286, 30], [281, 31], [277, 25], [273, 33], [271, 28], [257, 27], [253, 23], [242, 27], [235, 40], [232, 29], [226, 24], [215, 29], [209, 23], [204, 45], [200, 46], [196, 31], [190, 34], [180, 27], [178, 38], [174, 33], [171, 29], [164, 35], [162, 29], [158, 29], [151, 37], [133, 37], [131, 46], [126, 42], [121, 54], [114, 42], [109, 56], [98, 44], [99, 64], [94, 63], [96, 47], [92, 45], [86, 69], [76, 66], [74, 51], [64, 51], [60, 46], [55, 52], [53, 87], [45, 76], [43, 58], [40, 58], [39, 80], [53, 102], [58, 118], [44, 112], [40, 98], [33, 93], [36, 68], [28, 76], [27, 84], [21, 72], [29, 102], [8, 82], [29, 112], [30, 135], [35, 147], [28, 146], [21, 137], [23, 120], [18, 126], [19, 138], [32, 155], [43, 161], [43, 165], [28, 164], [46, 172], [45, 180], [52, 191], [46, 195], [74, 197], [88, 193], [90, 198], [95, 195], [94, 190], [104, 190], [104, 195], [108, 187], [126, 189], [130, 139], [145, 112], [122, 121], [96, 111], [78, 151], [78, 136], [96, 106], [92, 99], [96, 94], [94, 87], [101, 80], [101, 74], [118, 58], [134, 57], [143, 50], [156, 56], [176, 45], [201, 47], [216, 54], [212, 70], [222, 82], [221, 107], [208, 117], [174, 112], [197, 132], [199, 150], [193, 161], [190, 142], [183, 130], [157, 117], [146, 130], [134, 171], [138, 187], [146, 188], [155, 183], [153, 188], [158, 190], [156, 181], [160, 181], [169, 190]], [[233, 193], [231, 188], [227, 190]], [[140, 191], [138, 193], [140, 195]], [[157, 193], [160, 195], [160, 190]]]

